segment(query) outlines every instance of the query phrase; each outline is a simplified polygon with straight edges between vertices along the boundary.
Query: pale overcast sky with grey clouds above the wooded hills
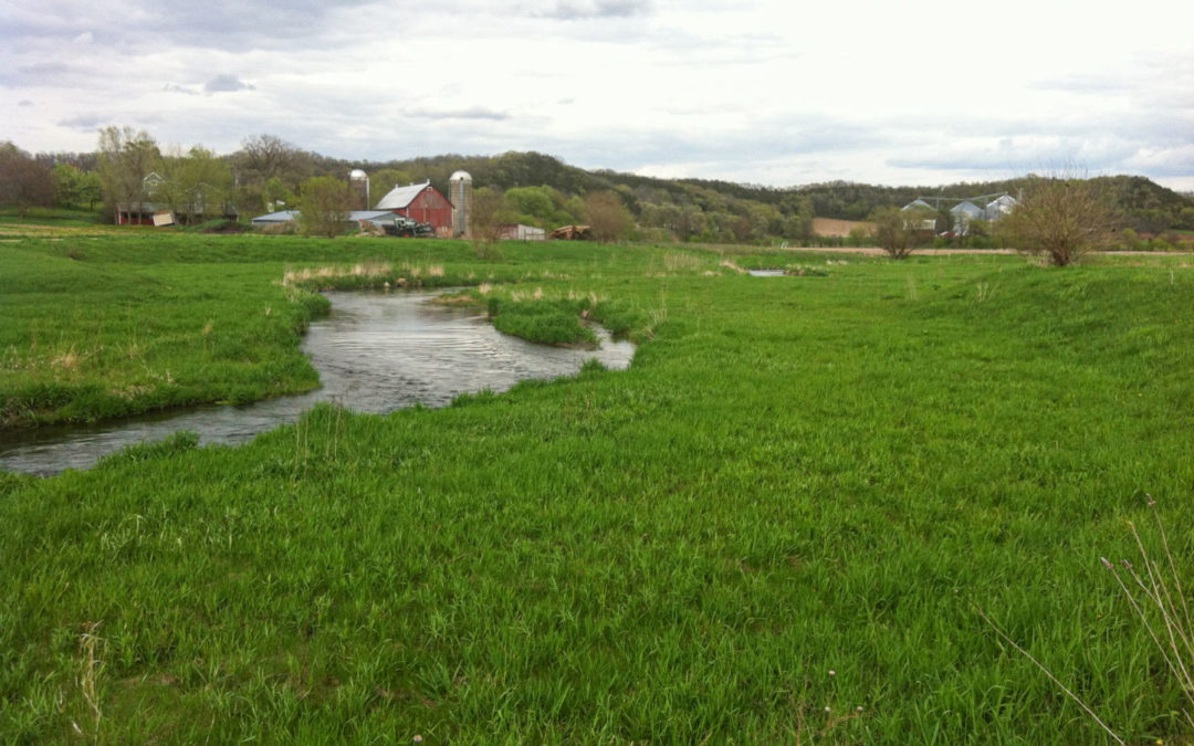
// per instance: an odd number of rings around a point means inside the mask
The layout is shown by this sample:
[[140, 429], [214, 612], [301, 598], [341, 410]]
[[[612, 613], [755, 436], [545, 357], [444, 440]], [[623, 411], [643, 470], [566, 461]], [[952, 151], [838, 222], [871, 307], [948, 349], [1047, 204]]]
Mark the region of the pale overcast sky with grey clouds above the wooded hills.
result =
[[1194, 191], [1194, 2], [0, 0], [0, 141]]

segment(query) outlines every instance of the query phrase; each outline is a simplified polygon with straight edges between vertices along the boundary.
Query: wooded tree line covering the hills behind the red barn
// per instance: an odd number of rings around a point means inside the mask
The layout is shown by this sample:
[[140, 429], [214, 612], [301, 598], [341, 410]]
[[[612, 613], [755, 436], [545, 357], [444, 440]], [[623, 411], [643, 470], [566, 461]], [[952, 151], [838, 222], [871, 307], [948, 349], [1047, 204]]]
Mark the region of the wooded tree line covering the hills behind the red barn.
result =
[[[160, 146], [144, 130], [107, 127], [93, 153], [30, 154], [0, 143], [0, 205], [24, 211], [60, 205], [101, 209], [153, 203], [180, 222], [252, 217], [293, 209], [312, 180], [369, 174], [373, 202], [394, 186], [430, 181], [448, 193], [455, 171], [467, 171], [494, 220], [553, 229], [601, 223], [611, 239], [767, 243], [813, 239], [813, 217], [867, 220], [884, 208], [918, 197], [946, 201], [974, 195], [1021, 193], [1033, 177], [962, 183], [934, 189], [829, 181], [768, 187], [706, 179], [658, 179], [613, 171], [585, 171], [541, 153], [496, 156], [445, 154], [390, 161], [346, 161], [304, 150], [281, 137], [253, 135], [230, 154], [201, 144]], [[1194, 199], [1144, 177], [1100, 177], [1122, 218], [1138, 234], [1194, 229]], [[320, 189], [327, 189], [321, 183]], [[346, 189], [346, 186], [345, 186]], [[364, 205], [356, 205], [364, 206]], [[946, 220], [942, 217], [941, 221]]]

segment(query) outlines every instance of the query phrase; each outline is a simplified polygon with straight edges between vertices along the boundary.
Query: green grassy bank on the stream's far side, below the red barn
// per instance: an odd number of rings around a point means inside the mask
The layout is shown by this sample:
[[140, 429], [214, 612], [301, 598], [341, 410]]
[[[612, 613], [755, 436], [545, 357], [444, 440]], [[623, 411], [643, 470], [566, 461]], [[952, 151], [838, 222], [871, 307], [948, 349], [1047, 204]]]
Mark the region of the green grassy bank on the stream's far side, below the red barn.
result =
[[[541, 301], [541, 284], [518, 285], [544, 278], [560, 285], [603, 263], [641, 264], [629, 249], [554, 247], [537, 265], [519, 261], [519, 252], [525, 248], [480, 261], [467, 243], [451, 241], [144, 232], [6, 242], [0, 429], [308, 390], [318, 377], [298, 339], [310, 319], [326, 313], [316, 294], [324, 289], [488, 283], [503, 303], [505, 317], [496, 319], [503, 331], [535, 341], [585, 341], [591, 335], [579, 313], [599, 317], [598, 309], [567, 302], [566, 290]], [[603, 310], [628, 331], [633, 309]]]

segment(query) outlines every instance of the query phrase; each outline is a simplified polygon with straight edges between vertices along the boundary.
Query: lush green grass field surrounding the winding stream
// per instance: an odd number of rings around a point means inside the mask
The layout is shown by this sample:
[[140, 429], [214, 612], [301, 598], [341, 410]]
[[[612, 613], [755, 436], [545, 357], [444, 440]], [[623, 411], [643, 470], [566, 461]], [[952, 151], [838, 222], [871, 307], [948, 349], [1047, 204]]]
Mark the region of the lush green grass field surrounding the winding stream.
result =
[[1194, 586], [1181, 257], [24, 239], [6, 417], [314, 386], [309, 290], [399, 277], [640, 346], [444, 409], [0, 475], [0, 741], [1104, 742], [978, 605], [1130, 742], [1189, 742], [1098, 561], [1135, 557], [1125, 519], [1159, 551], [1150, 493]]

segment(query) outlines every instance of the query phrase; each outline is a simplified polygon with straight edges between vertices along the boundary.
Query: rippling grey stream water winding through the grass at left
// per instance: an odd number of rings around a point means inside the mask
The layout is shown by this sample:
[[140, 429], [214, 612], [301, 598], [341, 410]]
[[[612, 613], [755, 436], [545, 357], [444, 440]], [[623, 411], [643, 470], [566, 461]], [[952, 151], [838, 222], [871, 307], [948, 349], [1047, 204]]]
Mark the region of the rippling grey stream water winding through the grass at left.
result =
[[444, 406], [457, 394], [504, 392], [527, 378], [555, 378], [597, 358], [629, 366], [634, 345], [596, 327], [598, 350], [536, 345], [501, 334], [475, 309], [431, 303], [437, 292], [327, 292], [328, 317], [307, 331], [302, 350], [322, 388], [244, 406], [203, 406], [98, 425], [0, 433], [0, 469], [49, 475], [86, 469], [125, 445], [160, 440], [179, 430], [201, 444], [245, 443], [293, 423], [320, 401], [381, 414], [421, 403]]

